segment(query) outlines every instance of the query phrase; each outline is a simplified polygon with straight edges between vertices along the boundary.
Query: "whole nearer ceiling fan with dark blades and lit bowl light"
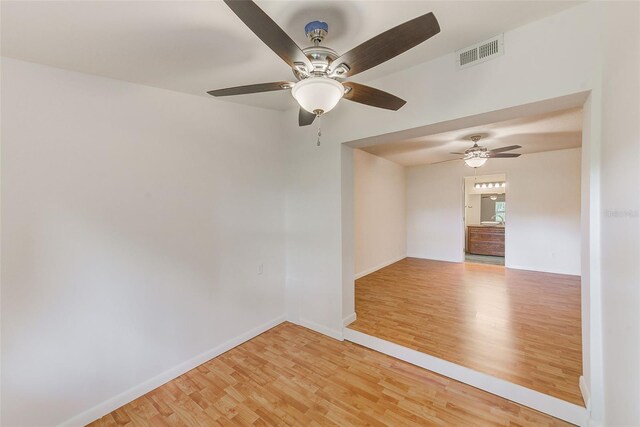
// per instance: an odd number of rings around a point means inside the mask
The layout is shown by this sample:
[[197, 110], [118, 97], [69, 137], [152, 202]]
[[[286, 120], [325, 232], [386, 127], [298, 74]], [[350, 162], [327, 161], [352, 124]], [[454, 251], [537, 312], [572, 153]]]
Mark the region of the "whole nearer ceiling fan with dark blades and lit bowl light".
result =
[[305, 26], [305, 33], [313, 46], [301, 49], [253, 1], [224, 2], [251, 31], [289, 64], [297, 81], [252, 84], [207, 93], [213, 96], [230, 96], [290, 89], [300, 105], [300, 126], [313, 123], [316, 117], [329, 112], [343, 97], [387, 110], [400, 109], [406, 104], [405, 100], [345, 79], [380, 65], [440, 32], [436, 17], [433, 13], [427, 13], [338, 55], [334, 50], [320, 46], [329, 31], [325, 22], [313, 21]]

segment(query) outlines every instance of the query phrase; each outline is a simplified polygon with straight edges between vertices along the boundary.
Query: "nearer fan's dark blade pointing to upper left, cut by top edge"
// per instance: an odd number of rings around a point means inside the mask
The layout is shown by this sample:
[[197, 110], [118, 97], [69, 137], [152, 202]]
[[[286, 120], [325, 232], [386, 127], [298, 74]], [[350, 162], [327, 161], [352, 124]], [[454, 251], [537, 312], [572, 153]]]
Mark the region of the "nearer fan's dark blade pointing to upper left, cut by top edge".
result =
[[289, 66], [296, 68], [296, 63], [299, 63], [304, 64], [308, 72], [313, 70], [311, 61], [302, 52], [302, 49], [257, 4], [251, 0], [224, 0], [224, 2], [260, 40]]

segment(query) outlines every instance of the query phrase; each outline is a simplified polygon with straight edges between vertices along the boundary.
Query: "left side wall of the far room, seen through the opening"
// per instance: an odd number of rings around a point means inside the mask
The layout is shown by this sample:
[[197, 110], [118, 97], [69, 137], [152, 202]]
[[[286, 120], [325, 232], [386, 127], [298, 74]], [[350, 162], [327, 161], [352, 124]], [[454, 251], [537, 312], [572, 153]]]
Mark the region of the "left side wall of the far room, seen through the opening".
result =
[[354, 150], [355, 271], [361, 277], [406, 256], [404, 167]]

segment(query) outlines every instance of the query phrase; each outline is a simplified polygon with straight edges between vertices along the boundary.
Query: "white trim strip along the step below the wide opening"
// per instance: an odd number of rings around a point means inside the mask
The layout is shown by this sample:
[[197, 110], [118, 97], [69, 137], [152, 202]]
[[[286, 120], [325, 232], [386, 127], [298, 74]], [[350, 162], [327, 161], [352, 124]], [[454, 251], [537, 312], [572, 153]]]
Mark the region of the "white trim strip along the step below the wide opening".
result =
[[477, 372], [473, 369], [456, 365], [455, 363], [420, 353], [419, 351], [349, 328], [345, 328], [344, 338], [572, 424], [586, 426], [589, 422], [589, 413], [586, 408], [528, 389], [521, 385], [513, 384], [500, 378], [492, 377], [482, 372]]

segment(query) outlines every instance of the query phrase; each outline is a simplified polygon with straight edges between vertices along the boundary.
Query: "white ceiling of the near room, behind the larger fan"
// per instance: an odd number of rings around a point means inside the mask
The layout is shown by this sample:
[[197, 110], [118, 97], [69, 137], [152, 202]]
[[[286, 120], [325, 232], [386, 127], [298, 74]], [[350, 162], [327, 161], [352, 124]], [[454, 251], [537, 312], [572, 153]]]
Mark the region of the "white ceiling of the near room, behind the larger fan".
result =
[[[441, 33], [358, 75], [367, 82], [574, 6], [575, 1], [262, 1], [300, 46], [304, 25], [329, 24], [343, 53], [433, 11]], [[292, 78], [289, 67], [221, 1], [2, 1], [2, 55], [202, 96], [207, 90]], [[381, 88], [384, 89], [384, 88]], [[225, 98], [275, 109], [288, 93]]]

